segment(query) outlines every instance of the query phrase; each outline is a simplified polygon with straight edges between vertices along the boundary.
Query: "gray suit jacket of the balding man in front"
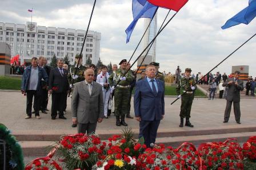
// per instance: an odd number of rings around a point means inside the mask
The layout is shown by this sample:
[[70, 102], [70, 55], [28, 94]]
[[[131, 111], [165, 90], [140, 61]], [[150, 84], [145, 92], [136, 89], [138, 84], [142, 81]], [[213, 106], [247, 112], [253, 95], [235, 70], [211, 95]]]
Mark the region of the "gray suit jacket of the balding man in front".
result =
[[102, 86], [93, 82], [91, 95], [85, 81], [74, 84], [71, 100], [71, 111], [78, 123], [96, 123], [98, 118], [103, 118], [104, 104]]

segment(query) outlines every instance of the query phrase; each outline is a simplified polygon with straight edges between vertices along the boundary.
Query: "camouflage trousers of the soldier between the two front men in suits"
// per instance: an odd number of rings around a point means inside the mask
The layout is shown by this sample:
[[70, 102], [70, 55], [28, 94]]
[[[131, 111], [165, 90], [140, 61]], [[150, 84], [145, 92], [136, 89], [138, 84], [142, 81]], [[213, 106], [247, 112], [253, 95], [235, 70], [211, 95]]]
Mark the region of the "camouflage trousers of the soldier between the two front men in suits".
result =
[[130, 88], [116, 88], [115, 92], [115, 115], [124, 116], [129, 114]]

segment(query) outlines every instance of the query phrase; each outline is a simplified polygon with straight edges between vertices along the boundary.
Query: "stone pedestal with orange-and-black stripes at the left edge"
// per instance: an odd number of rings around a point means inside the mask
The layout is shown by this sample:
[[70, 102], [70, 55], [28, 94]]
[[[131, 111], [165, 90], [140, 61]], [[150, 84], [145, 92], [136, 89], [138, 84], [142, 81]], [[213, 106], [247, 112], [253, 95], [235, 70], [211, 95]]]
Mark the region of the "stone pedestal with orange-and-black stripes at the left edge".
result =
[[0, 43], [0, 76], [10, 74], [11, 47], [7, 43]]

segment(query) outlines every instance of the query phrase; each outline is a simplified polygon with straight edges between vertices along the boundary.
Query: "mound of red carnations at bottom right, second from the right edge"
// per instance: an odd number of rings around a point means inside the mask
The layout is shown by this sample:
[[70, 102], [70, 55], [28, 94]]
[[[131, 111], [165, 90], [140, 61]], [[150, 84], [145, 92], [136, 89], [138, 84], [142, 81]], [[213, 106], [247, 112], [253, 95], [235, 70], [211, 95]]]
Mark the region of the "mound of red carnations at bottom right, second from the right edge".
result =
[[198, 147], [202, 157], [202, 169], [243, 169], [242, 148], [237, 142], [204, 143]]

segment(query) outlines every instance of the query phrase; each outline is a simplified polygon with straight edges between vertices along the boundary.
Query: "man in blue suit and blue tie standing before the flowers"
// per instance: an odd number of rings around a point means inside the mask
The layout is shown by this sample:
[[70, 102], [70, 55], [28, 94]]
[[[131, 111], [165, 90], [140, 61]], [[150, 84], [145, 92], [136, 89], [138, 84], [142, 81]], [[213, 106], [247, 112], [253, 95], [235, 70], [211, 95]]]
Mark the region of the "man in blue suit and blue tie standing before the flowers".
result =
[[157, 129], [165, 114], [165, 83], [155, 79], [154, 65], [147, 65], [146, 78], [138, 81], [134, 94], [134, 111], [139, 121], [139, 138], [147, 147], [153, 147]]

